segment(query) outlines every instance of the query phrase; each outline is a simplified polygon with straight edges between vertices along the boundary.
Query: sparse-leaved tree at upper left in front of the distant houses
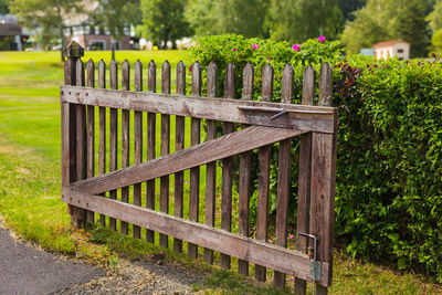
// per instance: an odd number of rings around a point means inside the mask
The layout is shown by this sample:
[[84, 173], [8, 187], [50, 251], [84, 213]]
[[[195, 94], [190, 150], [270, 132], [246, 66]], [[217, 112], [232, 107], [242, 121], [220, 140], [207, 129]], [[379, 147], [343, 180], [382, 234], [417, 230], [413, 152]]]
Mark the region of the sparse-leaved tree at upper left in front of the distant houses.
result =
[[64, 44], [64, 19], [82, 11], [80, 0], [10, 0], [9, 8], [24, 27], [39, 29], [38, 42], [44, 49]]

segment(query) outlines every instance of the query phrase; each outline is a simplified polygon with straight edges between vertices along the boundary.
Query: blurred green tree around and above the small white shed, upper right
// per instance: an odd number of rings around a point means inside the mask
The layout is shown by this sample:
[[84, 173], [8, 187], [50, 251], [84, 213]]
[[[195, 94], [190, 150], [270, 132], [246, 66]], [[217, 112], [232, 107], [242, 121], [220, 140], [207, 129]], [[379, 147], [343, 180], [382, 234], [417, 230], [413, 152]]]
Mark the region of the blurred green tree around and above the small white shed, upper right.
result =
[[411, 56], [427, 55], [429, 34], [425, 3], [421, 0], [368, 0], [346, 25], [341, 41], [350, 52], [386, 40], [402, 39], [411, 44]]

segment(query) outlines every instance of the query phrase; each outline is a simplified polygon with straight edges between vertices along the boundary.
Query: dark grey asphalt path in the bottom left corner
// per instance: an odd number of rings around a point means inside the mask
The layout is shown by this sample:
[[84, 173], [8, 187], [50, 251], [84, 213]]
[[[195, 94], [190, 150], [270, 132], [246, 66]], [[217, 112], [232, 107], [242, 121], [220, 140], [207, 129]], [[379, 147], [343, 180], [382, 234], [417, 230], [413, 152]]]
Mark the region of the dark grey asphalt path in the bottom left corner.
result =
[[103, 270], [17, 242], [0, 228], [0, 294], [56, 293], [104, 275]]

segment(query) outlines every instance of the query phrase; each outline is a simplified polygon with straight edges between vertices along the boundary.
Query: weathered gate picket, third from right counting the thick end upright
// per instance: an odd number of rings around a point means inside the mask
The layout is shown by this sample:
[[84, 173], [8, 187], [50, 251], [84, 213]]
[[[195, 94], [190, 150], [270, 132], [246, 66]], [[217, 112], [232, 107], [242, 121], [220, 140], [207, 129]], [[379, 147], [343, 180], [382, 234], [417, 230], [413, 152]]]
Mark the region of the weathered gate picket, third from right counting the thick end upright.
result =
[[[292, 103], [293, 98], [293, 67], [286, 64], [283, 71], [281, 102]], [[292, 140], [286, 139], [280, 143], [277, 164], [277, 196], [276, 196], [276, 244], [287, 246], [287, 214], [290, 199], [290, 171], [291, 171], [291, 147]], [[285, 274], [274, 274], [274, 285], [278, 288], [285, 287]]]

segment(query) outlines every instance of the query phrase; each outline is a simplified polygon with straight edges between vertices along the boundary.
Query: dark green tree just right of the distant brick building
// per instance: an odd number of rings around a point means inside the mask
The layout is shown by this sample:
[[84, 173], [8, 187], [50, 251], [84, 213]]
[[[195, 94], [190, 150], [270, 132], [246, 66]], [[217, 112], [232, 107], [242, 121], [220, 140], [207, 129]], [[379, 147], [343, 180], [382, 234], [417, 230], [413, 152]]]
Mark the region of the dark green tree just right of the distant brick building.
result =
[[151, 39], [160, 49], [167, 43], [191, 35], [189, 23], [185, 19], [185, 0], [141, 0], [141, 34]]

